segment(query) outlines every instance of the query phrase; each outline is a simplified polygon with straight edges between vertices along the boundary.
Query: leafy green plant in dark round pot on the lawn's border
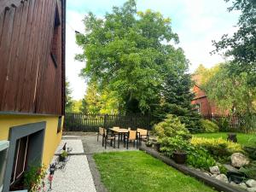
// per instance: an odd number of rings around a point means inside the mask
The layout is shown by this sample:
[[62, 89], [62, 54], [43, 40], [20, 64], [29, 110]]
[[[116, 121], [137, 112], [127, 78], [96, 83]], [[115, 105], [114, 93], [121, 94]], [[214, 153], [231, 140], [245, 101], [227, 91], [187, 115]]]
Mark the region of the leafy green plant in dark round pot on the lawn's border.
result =
[[187, 151], [189, 150], [189, 142], [183, 137], [164, 137], [160, 140], [160, 151], [172, 159], [177, 164], [184, 164], [187, 160]]

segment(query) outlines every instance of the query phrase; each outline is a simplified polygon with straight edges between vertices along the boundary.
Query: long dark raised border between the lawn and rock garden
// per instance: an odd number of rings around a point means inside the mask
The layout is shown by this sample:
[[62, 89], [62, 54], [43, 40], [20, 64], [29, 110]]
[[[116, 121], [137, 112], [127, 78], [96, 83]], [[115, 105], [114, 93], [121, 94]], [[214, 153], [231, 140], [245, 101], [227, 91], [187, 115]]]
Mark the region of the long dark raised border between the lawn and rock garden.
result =
[[173, 160], [171, 160], [170, 158], [155, 151], [153, 148], [141, 146], [139, 149], [146, 152], [147, 154], [150, 154], [151, 156], [153, 156], [156, 159], [162, 160], [168, 166], [172, 166], [175, 169], [177, 169], [178, 171], [183, 172], [186, 175], [189, 175], [191, 177], [195, 177], [195, 178], [201, 180], [203, 183], [206, 183], [208, 186], [213, 187], [214, 189], [216, 189], [218, 191], [247, 192], [247, 190], [237, 189], [236, 187], [230, 185], [229, 183], [224, 183], [222, 181], [219, 181], [216, 178], [207, 176], [206, 174], [204, 174], [200, 171], [197, 171], [195, 169], [189, 168], [188, 166], [179, 165], [179, 164], [175, 163]]

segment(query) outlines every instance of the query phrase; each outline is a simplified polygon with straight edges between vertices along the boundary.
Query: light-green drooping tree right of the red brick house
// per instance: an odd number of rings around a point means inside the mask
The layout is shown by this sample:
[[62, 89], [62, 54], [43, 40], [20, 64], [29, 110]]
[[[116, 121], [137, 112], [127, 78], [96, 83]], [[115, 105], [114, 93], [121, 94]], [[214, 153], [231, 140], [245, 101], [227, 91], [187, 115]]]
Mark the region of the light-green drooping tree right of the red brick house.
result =
[[[231, 75], [227, 64], [218, 65], [218, 70], [202, 84], [208, 98], [224, 111], [231, 113], [255, 112], [256, 88], [247, 84], [247, 73]], [[211, 70], [211, 69], [209, 69]]]

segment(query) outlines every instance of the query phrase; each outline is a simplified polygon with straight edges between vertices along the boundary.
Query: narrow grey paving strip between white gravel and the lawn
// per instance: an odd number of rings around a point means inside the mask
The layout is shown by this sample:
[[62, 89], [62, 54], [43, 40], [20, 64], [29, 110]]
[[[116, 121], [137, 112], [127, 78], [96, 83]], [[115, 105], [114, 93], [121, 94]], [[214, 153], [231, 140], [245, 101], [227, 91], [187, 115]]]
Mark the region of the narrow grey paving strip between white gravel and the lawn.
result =
[[87, 160], [90, 167], [90, 172], [93, 178], [94, 185], [97, 192], [108, 192], [104, 184], [101, 181], [101, 174], [96, 167], [95, 160], [93, 159], [93, 154], [86, 154]]

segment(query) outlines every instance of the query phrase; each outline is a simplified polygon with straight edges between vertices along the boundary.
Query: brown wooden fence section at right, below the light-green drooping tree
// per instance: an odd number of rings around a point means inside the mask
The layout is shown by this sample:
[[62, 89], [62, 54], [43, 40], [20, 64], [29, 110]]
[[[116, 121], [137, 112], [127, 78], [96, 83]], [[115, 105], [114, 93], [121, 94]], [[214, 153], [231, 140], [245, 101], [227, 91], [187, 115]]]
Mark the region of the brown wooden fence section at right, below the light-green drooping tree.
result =
[[[203, 116], [204, 119], [215, 120], [218, 123], [226, 121], [226, 124], [230, 129], [241, 130], [241, 129], [256, 129], [256, 115], [253, 114], [250, 118], [244, 115], [237, 114], [207, 114]], [[248, 124], [250, 122], [250, 124]], [[251, 127], [247, 127], [251, 126]], [[242, 131], [242, 130], [241, 130]]]

